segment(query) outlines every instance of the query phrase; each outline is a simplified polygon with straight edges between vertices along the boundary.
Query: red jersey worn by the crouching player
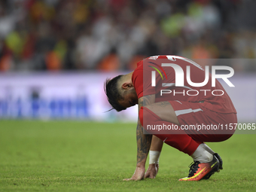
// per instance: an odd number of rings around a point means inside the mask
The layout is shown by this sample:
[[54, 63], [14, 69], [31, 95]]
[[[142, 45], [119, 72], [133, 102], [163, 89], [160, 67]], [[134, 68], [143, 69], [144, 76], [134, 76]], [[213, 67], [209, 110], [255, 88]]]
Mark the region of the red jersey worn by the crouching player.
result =
[[[187, 82], [187, 66], [190, 68], [192, 83]], [[138, 98], [155, 94], [155, 102], [203, 102], [203, 106], [211, 111], [225, 114], [236, 113], [230, 97], [218, 80], [215, 80], [215, 87], [212, 87], [210, 73], [209, 81], [202, 87], [190, 85], [202, 83], [205, 78], [205, 69], [190, 59], [181, 56], [151, 56], [137, 63], [132, 81]]]

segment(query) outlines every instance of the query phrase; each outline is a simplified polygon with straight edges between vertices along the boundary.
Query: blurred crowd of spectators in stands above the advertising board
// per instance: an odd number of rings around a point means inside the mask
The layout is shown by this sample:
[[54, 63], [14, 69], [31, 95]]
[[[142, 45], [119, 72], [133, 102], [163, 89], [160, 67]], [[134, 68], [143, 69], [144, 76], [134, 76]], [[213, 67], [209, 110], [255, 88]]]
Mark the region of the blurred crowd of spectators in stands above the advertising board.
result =
[[[133, 70], [164, 54], [253, 61], [255, 10], [254, 0], [2, 0], [0, 71]], [[227, 65], [251, 72], [251, 61]]]

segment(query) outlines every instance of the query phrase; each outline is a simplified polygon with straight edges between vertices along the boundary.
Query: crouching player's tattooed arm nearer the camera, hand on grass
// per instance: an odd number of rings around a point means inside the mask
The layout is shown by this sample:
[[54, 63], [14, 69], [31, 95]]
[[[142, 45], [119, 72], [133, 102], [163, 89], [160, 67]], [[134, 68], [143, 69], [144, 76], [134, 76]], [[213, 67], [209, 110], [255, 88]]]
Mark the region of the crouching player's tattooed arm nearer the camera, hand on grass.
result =
[[[142, 96], [139, 98], [139, 110], [142, 106], [150, 105], [154, 103], [155, 96], [148, 95]], [[152, 135], [143, 134], [143, 127], [138, 118], [137, 130], [136, 130], [136, 139], [137, 139], [137, 166], [132, 178], [125, 178], [125, 181], [130, 180], [141, 180], [144, 178], [145, 174], [145, 163], [148, 157], [148, 151], [151, 147]]]

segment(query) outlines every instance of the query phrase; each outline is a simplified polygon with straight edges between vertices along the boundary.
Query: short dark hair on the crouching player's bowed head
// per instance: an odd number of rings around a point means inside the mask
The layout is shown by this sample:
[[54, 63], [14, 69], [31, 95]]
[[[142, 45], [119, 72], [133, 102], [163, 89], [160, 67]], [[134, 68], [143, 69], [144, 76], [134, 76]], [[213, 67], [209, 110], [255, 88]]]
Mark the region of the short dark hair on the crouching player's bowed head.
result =
[[117, 77], [112, 79], [107, 78], [104, 84], [104, 90], [105, 94], [108, 97], [108, 102], [118, 112], [126, 109], [118, 102], [119, 100], [123, 99], [123, 96], [120, 95], [120, 92], [117, 87], [117, 82], [120, 80], [122, 76], [123, 75], [118, 75]]

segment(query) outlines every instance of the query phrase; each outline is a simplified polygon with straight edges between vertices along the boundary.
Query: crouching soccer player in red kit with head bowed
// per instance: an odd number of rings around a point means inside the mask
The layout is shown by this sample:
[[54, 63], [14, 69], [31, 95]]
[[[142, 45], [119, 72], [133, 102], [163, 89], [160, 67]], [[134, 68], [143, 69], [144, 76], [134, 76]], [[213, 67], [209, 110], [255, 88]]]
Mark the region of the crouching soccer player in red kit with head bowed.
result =
[[134, 72], [107, 79], [105, 93], [114, 109], [139, 104], [136, 171], [124, 180], [155, 178], [163, 142], [194, 160], [180, 181], [208, 179], [223, 169], [221, 157], [204, 142], [222, 142], [233, 135], [235, 130], [221, 126], [237, 123], [236, 109], [212, 77], [209, 68], [190, 59], [151, 56], [138, 62]]

